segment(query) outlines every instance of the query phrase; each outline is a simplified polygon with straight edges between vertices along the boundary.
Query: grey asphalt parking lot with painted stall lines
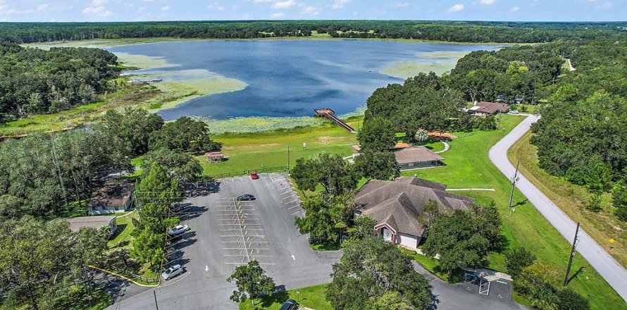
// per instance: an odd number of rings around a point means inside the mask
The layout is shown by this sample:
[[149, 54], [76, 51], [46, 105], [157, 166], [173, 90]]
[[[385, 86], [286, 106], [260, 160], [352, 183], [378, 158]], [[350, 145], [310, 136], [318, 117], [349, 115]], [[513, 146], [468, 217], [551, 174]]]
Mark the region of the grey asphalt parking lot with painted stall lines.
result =
[[[237, 202], [240, 194], [257, 199]], [[159, 309], [237, 309], [226, 278], [252, 259], [287, 290], [330, 282], [341, 253], [313, 251], [298, 232], [294, 217], [302, 209], [285, 175], [221, 179], [217, 192], [184, 203], [182, 223], [191, 230], [168, 247], [166, 268], [179, 263], [186, 272], [154, 289]], [[154, 309], [152, 290], [132, 285], [109, 309]]]

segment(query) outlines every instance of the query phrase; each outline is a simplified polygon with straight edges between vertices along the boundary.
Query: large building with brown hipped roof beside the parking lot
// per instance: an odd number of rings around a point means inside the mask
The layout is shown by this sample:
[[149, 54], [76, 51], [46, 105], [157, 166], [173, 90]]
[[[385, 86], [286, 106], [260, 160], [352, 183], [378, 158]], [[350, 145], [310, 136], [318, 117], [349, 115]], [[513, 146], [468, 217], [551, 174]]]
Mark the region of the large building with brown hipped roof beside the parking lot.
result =
[[467, 209], [473, 199], [445, 192], [447, 185], [414, 177], [393, 181], [370, 180], [355, 196], [356, 216], [376, 221], [375, 235], [402, 247], [416, 249], [426, 237], [418, 222], [424, 206], [433, 200], [440, 211]]

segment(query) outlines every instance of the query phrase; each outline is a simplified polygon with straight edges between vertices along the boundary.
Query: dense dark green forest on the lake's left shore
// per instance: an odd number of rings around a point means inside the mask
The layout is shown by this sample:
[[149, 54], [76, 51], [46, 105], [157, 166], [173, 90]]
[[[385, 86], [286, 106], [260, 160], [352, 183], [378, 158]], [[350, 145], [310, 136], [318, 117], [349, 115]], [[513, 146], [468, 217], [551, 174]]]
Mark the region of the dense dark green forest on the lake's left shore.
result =
[[27, 116], [94, 101], [113, 77], [115, 55], [89, 48], [23, 48], [0, 42], [0, 116]]

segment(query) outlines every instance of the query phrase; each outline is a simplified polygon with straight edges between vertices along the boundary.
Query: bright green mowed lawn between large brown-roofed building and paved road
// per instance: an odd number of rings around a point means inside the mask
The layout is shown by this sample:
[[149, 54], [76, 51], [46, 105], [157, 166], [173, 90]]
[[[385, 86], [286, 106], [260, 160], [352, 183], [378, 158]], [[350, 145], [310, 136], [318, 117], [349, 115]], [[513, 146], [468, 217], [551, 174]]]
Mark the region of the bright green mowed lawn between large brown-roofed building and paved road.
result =
[[[473, 197], [479, 203], [495, 202], [501, 213], [503, 233], [507, 237], [509, 248], [526, 247], [539, 260], [557, 268], [560, 275], [557, 281], [561, 282], [566, 273], [571, 250], [569, 240], [562, 237], [518, 190], [514, 193], [513, 200], [516, 211], [509, 216], [507, 203], [511, 184], [488, 158], [490, 147], [507, 135], [521, 120], [523, 120], [521, 116], [503, 116], [499, 130], [456, 132], [454, 134], [459, 138], [451, 142], [449, 151], [440, 154], [445, 158], [447, 166], [404, 171], [402, 174], [416, 174], [419, 178], [445, 183], [449, 188], [494, 188], [495, 192], [455, 193]], [[486, 267], [506, 271], [504, 254], [490, 254]], [[580, 268], [583, 269], [577, 272]], [[573, 261], [571, 275], [573, 274], [576, 276], [569, 283], [569, 287], [587, 297], [592, 309], [627, 309], [619, 294], [616, 294], [580, 254], [577, 254]]]

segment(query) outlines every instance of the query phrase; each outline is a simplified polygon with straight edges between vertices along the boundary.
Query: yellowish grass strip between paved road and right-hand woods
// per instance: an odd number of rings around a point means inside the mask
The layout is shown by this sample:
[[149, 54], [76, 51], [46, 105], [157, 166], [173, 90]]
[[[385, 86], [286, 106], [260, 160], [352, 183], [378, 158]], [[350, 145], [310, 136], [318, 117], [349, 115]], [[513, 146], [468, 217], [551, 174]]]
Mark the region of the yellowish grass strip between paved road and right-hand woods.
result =
[[[585, 209], [592, 194], [583, 186], [574, 185], [563, 178], [555, 177], [539, 166], [538, 149], [530, 144], [532, 133], [528, 132], [507, 152], [512, 163], [521, 161], [520, 171], [538, 187], [543, 194], [564, 211], [573, 221], [581, 222], [581, 227], [623, 266], [627, 266], [627, 223], [621, 223], [614, 216], [612, 197], [604, 194], [603, 210], [592, 212]], [[614, 239], [614, 243], [609, 240]]]

